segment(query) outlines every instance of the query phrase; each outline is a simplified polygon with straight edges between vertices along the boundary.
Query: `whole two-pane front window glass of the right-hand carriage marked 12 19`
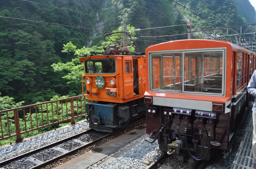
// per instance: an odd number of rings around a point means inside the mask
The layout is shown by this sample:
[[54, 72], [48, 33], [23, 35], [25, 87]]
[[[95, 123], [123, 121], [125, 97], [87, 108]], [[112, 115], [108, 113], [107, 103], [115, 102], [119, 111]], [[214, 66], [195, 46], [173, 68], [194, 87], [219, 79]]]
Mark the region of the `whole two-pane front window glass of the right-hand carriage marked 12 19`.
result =
[[151, 90], [224, 94], [224, 50], [152, 53], [150, 58]]

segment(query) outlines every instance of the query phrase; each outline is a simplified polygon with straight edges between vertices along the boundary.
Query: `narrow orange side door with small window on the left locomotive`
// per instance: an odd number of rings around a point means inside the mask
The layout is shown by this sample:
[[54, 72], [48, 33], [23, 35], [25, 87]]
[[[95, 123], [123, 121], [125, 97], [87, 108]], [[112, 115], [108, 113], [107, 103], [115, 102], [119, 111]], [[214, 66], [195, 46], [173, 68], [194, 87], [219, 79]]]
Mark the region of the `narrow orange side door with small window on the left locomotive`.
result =
[[124, 99], [134, 96], [134, 79], [132, 56], [123, 57], [123, 81], [124, 81]]

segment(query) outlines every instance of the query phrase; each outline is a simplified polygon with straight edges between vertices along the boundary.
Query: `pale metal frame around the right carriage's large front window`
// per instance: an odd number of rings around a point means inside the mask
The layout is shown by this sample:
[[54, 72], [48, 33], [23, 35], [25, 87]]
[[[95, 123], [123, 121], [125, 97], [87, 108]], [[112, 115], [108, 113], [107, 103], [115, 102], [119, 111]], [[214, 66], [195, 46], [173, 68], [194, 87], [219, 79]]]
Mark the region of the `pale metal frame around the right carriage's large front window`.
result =
[[[184, 91], [184, 80], [185, 80], [185, 77], [184, 77], [184, 58], [185, 58], [185, 53], [191, 53], [191, 52], [219, 52], [221, 51], [222, 52], [222, 72], [223, 72], [223, 75], [222, 75], [222, 92], [221, 93], [202, 93], [202, 92], [191, 92], [191, 91]], [[152, 80], [152, 55], [164, 55], [164, 54], [171, 54], [171, 53], [182, 53], [182, 65], [181, 65], [181, 73], [182, 73], [182, 91], [175, 91], [175, 90], [165, 90], [165, 89], [152, 89], [152, 83], [153, 83], [153, 80]], [[163, 92], [163, 93], [181, 93], [181, 94], [196, 94], [196, 95], [207, 95], [207, 96], [225, 96], [225, 93], [226, 93], [226, 47], [221, 47], [221, 48], [205, 48], [205, 49], [186, 49], [186, 50], [171, 50], [171, 51], [150, 51], [148, 52], [148, 56], [149, 56], [149, 59], [148, 59], [148, 65], [150, 65], [148, 67], [148, 71], [149, 71], [149, 75], [148, 75], [148, 79], [149, 79], [149, 91], [153, 91], [153, 92]], [[160, 57], [160, 75], [162, 76], [162, 70], [163, 69], [163, 56], [158, 56]], [[201, 62], [203, 62], [203, 57], [201, 57]], [[204, 64], [202, 63], [202, 75], [201, 77], [204, 77]], [[162, 79], [162, 78], [161, 78]], [[160, 80], [160, 83], [161, 80]], [[161, 85], [160, 84], [160, 88], [161, 88]]]

